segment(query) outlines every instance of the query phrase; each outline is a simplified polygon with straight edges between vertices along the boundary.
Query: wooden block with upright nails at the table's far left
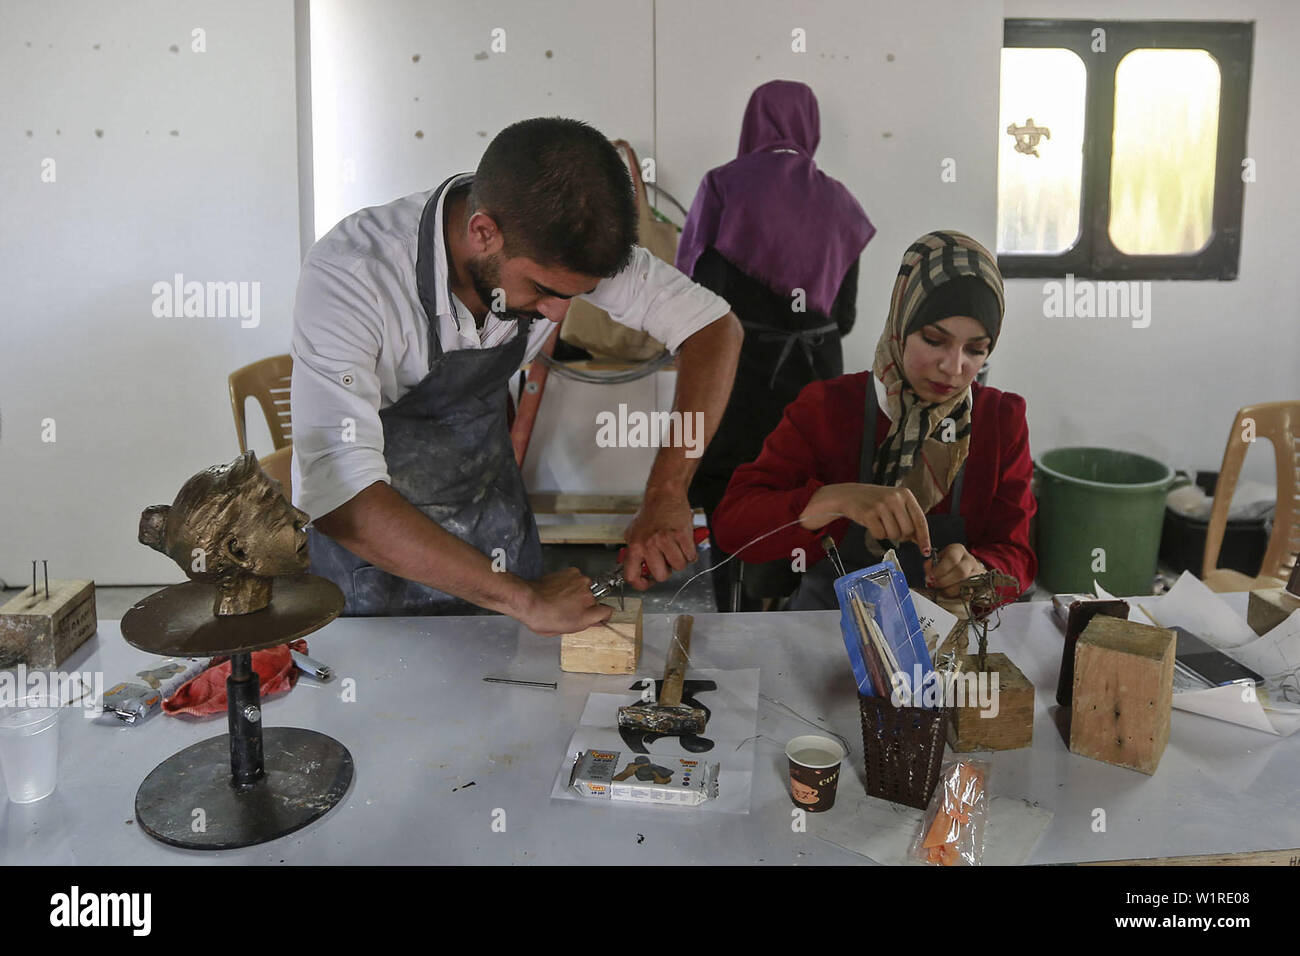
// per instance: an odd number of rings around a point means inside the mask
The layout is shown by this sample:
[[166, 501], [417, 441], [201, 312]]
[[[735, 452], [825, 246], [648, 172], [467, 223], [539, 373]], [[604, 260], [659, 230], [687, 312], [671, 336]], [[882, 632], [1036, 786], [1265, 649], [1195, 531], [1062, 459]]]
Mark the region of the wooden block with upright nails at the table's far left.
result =
[[0, 607], [0, 667], [57, 667], [96, 630], [95, 583], [42, 583]]

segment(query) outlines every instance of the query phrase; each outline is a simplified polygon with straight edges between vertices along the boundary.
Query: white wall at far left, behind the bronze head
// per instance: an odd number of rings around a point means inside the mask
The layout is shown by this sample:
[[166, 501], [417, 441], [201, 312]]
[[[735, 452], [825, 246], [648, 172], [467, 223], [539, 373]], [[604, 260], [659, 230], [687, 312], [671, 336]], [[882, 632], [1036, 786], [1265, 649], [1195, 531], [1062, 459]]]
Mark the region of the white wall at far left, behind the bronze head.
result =
[[[0, 578], [179, 580], [140, 510], [234, 458], [226, 375], [287, 350], [292, 4], [0, 0]], [[153, 317], [178, 272], [260, 282], [260, 325]]]

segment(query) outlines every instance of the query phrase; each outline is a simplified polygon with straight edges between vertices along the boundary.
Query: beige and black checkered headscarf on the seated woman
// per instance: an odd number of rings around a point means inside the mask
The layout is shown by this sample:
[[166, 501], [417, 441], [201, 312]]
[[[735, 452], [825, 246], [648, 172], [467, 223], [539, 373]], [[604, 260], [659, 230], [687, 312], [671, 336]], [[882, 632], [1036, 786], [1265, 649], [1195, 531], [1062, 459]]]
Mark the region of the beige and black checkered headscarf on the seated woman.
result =
[[[926, 298], [944, 282], [962, 276], [984, 280], [997, 295], [1000, 310], [1005, 308], [997, 260], [975, 239], [948, 229], [927, 233], [911, 243], [898, 268], [889, 320], [876, 343], [872, 365], [884, 385], [893, 420], [884, 445], [876, 450], [875, 483], [909, 489], [926, 512], [948, 494], [970, 453], [971, 390], [967, 386], [939, 405], [926, 403], [902, 375], [902, 347], [909, 321]], [[996, 338], [997, 333], [991, 334]], [[954, 423], [950, 432], [942, 427], [945, 419]]]

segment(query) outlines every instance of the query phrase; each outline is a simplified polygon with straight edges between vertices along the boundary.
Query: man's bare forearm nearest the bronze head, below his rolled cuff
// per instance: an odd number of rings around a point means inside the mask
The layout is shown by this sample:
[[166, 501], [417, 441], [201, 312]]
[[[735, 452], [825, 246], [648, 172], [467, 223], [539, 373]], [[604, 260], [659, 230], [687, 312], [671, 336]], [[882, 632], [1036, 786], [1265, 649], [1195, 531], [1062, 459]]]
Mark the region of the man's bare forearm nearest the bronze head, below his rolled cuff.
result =
[[511, 617], [520, 617], [532, 591], [517, 575], [493, 571], [482, 551], [441, 528], [428, 515], [376, 481], [312, 527], [378, 568]]

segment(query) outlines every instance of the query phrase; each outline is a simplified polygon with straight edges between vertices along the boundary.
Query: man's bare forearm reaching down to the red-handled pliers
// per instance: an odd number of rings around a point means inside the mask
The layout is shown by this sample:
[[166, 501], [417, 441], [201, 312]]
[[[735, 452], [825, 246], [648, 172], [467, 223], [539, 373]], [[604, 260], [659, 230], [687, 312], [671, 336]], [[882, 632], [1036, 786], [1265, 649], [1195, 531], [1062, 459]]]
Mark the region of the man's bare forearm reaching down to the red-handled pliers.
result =
[[681, 412], [684, 423], [688, 415], [703, 412], [703, 428], [697, 434], [692, 425], [692, 447], [676, 441], [659, 449], [646, 480], [647, 498], [654, 494], [685, 496], [690, 479], [699, 467], [699, 457], [708, 447], [723, 412], [727, 411], [744, 341], [745, 332], [740, 320], [728, 312], [681, 343], [677, 350], [673, 411]]

